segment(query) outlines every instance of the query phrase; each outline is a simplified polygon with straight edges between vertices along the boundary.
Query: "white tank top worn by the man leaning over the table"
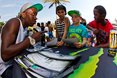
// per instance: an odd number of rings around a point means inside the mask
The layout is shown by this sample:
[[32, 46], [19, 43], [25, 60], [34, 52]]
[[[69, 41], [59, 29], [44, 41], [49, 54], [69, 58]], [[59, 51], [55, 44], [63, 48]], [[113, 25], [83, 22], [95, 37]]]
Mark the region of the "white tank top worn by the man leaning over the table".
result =
[[[26, 36], [26, 33], [27, 31], [24, 30], [23, 26], [22, 26], [22, 22], [21, 20], [18, 18], [18, 20], [20, 21], [20, 28], [19, 28], [19, 32], [18, 32], [18, 36], [17, 36], [17, 39], [16, 39], [16, 44], [17, 43], [20, 43], [24, 40], [25, 36]], [[8, 61], [8, 62], [4, 62], [1, 58], [1, 43], [2, 43], [2, 40], [1, 40], [1, 34], [0, 34], [0, 75], [9, 67], [12, 65], [12, 62], [11, 61]]]

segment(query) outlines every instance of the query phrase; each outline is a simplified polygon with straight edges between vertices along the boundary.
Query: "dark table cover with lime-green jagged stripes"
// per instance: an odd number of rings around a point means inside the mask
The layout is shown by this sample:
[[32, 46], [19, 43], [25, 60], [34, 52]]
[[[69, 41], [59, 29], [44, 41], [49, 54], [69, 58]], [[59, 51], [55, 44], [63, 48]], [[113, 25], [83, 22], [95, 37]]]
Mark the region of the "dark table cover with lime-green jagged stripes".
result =
[[[71, 65], [74, 70], [65, 78], [117, 78], [117, 56], [114, 58], [108, 56], [107, 48], [76, 49], [64, 46], [53, 47], [52, 50], [64, 55], [80, 55], [80, 58], [75, 60], [76, 63]], [[26, 78], [24, 71], [16, 62], [13, 72], [14, 78]]]

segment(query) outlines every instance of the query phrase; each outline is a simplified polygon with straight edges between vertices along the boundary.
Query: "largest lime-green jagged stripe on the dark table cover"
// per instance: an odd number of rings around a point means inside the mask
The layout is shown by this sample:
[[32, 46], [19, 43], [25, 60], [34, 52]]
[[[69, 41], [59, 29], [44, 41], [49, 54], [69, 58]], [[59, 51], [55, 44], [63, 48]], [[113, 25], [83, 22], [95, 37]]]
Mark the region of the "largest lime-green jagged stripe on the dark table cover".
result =
[[90, 56], [88, 61], [81, 64], [68, 78], [92, 78], [98, 67], [99, 57], [102, 56], [102, 54], [104, 54], [103, 48], [101, 48], [97, 54]]

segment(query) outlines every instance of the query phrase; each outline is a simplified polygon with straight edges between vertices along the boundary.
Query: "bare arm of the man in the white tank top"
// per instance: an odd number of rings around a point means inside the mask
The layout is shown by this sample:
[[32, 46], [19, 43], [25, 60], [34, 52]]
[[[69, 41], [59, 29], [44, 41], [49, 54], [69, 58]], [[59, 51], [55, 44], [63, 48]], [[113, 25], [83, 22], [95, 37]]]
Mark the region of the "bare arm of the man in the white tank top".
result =
[[9, 59], [18, 55], [22, 52], [22, 50], [26, 49], [30, 45], [30, 41], [28, 38], [24, 39], [24, 41], [18, 44], [15, 44], [19, 26], [19, 20], [14, 18], [8, 21], [8, 23], [3, 28], [1, 57], [4, 61], [8, 61]]

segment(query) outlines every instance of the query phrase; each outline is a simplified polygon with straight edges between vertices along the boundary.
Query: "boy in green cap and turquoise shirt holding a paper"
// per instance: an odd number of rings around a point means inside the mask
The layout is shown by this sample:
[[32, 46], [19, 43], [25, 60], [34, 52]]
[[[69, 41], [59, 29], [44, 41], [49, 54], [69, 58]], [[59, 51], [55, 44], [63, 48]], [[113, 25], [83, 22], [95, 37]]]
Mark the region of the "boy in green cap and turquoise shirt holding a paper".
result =
[[87, 30], [83, 24], [80, 24], [81, 14], [77, 10], [70, 10], [68, 15], [72, 17], [73, 24], [69, 26], [68, 38], [77, 38], [78, 40], [73, 43], [76, 48], [85, 46], [87, 40]]

